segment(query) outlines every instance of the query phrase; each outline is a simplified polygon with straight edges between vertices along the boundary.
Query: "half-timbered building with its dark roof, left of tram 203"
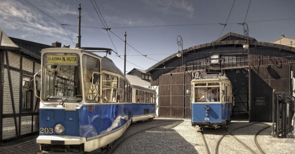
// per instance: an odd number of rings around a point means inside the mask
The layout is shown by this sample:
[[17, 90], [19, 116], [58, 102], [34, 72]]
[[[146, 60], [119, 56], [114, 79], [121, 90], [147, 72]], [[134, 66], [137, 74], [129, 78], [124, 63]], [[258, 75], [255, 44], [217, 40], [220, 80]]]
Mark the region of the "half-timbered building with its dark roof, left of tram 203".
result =
[[52, 46], [9, 38], [0, 29], [0, 142], [39, 131], [39, 99], [32, 83], [43, 48]]

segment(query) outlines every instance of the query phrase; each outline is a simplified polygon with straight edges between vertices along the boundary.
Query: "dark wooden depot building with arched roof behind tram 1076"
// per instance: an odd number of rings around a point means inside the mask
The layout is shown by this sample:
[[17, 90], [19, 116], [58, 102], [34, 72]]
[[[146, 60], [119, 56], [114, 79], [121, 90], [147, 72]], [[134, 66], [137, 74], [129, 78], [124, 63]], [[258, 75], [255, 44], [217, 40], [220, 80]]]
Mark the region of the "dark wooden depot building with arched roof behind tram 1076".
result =
[[[243, 44], [249, 40], [249, 49]], [[249, 121], [271, 121], [272, 91], [292, 93], [295, 48], [259, 42], [228, 33], [211, 43], [196, 45], [147, 69], [151, 85], [159, 86], [159, 116], [191, 118], [192, 73], [225, 71], [233, 85], [234, 114], [246, 113]], [[212, 60], [212, 58], [222, 60]], [[291, 114], [291, 113], [290, 113]]]

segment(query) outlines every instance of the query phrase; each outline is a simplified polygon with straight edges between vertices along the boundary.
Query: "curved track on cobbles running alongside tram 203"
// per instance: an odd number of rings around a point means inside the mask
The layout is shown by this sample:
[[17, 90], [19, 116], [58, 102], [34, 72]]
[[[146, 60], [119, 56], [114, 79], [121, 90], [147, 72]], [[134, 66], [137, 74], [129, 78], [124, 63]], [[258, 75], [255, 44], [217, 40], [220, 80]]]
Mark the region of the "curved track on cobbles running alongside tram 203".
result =
[[[175, 121], [178, 121], [178, 122], [175, 122]], [[164, 123], [164, 122], [173, 122], [173, 123], [169, 123], [169, 124], [163, 124], [163, 125], [157, 125], [157, 126], [154, 126], [154, 127], [149, 127], [149, 128], [146, 128], [146, 129], [143, 129], [143, 130], [140, 130], [138, 132], [135, 132], [133, 134], [130, 134], [129, 136], [125, 137], [124, 139], [120, 140], [118, 143], [116, 143], [116, 146], [115, 147], [112, 147], [112, 148], [109, 148], [107, 150], [104, 150], [104, 152], [101, 152], [100, 154], [111, 154], [113, 152], [115, 152], [117, 150], [118, 147], [120, 147], [120, 145], [128, 138], [134, 136], [135, 134], [138, 134], [138, 133], [141, 133], [143, 131], [146, 131], [148, 129], [153, 129], [153, 128], [157, 128], [157, 127], [161, 127], [161, 126], [165, 126], [165, 125], [172, 125], [172, 124], [179, 124], [179, 123], [182, 123], [183, 121], [179, 121], [179, 120], [170, 120], [170, 121], [162, 121], [162, 122], [158, 122], [158, 123]], [[158, 124], [156, 123], [156, 124]], [[155, 123], [153, 123], [155, 124]], [[139, 126], [142, 126], [142, 125], [139, 125]], [[133, 126], [133, 127], [136, 127], [136, 126]], [[116, 141], [115, 141], [116, 142]]]

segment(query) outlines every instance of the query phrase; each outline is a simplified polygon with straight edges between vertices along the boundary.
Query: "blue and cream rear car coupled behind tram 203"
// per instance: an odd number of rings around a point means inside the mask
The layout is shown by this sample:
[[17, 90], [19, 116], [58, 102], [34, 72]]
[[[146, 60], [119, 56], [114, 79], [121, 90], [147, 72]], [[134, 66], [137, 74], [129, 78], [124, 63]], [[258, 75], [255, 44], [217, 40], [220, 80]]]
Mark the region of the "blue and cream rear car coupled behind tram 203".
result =
[[152, 120], [156, 116], [156, 91], [132, 85], [132, 122]]

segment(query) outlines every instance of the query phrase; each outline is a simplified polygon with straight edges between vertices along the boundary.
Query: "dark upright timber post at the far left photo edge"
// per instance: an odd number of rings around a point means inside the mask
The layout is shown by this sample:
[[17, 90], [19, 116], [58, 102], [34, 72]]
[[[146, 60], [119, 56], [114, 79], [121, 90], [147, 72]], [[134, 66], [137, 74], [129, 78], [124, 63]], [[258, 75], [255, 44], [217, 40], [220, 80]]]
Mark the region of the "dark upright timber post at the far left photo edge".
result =
[[3, 137], [4, 50], [0, 50], [0, 141]]

